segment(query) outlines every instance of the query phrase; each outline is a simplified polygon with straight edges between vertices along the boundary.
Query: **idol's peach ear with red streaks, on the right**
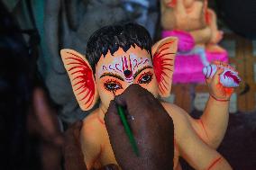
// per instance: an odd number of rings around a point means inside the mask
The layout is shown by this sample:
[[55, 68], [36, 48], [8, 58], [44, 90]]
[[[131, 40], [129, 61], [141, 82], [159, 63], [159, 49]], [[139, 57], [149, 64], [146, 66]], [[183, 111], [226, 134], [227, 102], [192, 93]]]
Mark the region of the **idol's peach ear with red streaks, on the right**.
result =
[[177, 47], [178, 39], [175, 37], [160, 40], [152, 47], [153, 66], [161, 97], [168, 97], [170, 94]]

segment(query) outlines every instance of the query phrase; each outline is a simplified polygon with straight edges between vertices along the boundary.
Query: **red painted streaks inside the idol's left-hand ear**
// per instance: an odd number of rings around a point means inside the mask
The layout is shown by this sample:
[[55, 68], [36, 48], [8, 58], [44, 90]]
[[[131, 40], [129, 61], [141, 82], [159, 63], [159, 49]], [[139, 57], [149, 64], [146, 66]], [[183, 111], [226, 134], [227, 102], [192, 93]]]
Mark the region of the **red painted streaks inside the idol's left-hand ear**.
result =
[[[87, 62], [85, 62], [82, 58], [80, 58], [76, 54], [70, 52], [67, 53], [72, 56], [65, 59], [68, 61], [67, 65], [70, 65], [70, 75], [74, 76], [74, 78], [71, 80], [71, 82], [74, 84], [74, 91], [78, 93], [77, 91], [81, 89], [81, 91], [77, 94], [78, 96], [86, 93], [84, 96], [81, 96], [82, 99], [79, 99], [79, 101], [83, 101], [88, 97], [85, 104], [89, 103], [90, 105], [93, 102], [95, 94], [93, 72], [91, 68], [87, 65]], [[80, 79], [80, 81], [74, 83], [74, 81], [77, 79]]]

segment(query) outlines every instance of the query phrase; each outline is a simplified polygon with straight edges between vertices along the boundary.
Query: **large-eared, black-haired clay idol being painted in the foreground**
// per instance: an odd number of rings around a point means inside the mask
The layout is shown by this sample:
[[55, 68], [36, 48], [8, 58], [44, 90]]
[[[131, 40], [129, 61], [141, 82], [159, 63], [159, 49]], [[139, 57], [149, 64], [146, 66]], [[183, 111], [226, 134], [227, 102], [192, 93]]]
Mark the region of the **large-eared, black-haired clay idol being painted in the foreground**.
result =
[[[72, 49], [60, 51], [81, 109], [87, 111], [100, 100], [99, 107], [87, 116], [81, 130], [88, 169], [117, 164], [104, 121], [114, 95], [138, 84], [155, 97], [169, 96], [177, 46], [178, 40], [173, 37], [152, 46], [148, 31], [138, 24], [126, 23], [96, 31], [88, 40], [86, 56]], [[227, 164], [215, 148], [224, 138], [228, 99], [233, 89], [226, 93], [223, 87], [215, 87], [220, 71], [207, 79], [214, 97], [209, 98], [199, 120], [192, 119], [174, 104], [162, 103], [175, 126], [174, 169], [180, 169], [178, 157], [184, 157], [196, 169], [221, 169]]]

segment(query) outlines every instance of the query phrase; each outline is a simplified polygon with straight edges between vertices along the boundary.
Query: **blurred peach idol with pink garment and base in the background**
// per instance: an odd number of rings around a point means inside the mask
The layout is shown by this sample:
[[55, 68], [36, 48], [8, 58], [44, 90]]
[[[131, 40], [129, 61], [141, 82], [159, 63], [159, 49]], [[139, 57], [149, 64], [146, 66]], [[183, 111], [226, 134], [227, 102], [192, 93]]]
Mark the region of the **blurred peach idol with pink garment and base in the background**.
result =
[[173, 83], [204, 82], [203, 67], [215, 60], [228, 62], [227, 51], [217, 45], [223, 31], [207, 0], [161, 0], [160, 7], [162, 37], [178, 37]]

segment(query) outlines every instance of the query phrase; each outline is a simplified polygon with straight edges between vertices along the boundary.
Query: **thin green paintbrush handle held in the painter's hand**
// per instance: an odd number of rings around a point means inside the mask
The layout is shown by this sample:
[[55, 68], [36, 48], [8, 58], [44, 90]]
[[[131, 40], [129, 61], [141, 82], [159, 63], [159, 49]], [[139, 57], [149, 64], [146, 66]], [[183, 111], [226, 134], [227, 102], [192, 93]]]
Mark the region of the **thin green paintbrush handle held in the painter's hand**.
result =
[[137, 148], [135, 139], [133, 137], [132, 130], [130, 129], [129, 124], [126, 121], [126, 118], [125, 118], [125, 115], [124, 115], [124, 112], [123, 112], [123, 107], [121, 105], [117, 105], [117, 111], [118, 111], [118, 114], [120, 115], [121, 121], [123, 122], [123, 128], [124, 128], [128, 138], [130, 140], [130, 143], [132, 144], [133, 151], [135, 152], [135, 154], [137, 156], [139, 156], [139, 150]]

